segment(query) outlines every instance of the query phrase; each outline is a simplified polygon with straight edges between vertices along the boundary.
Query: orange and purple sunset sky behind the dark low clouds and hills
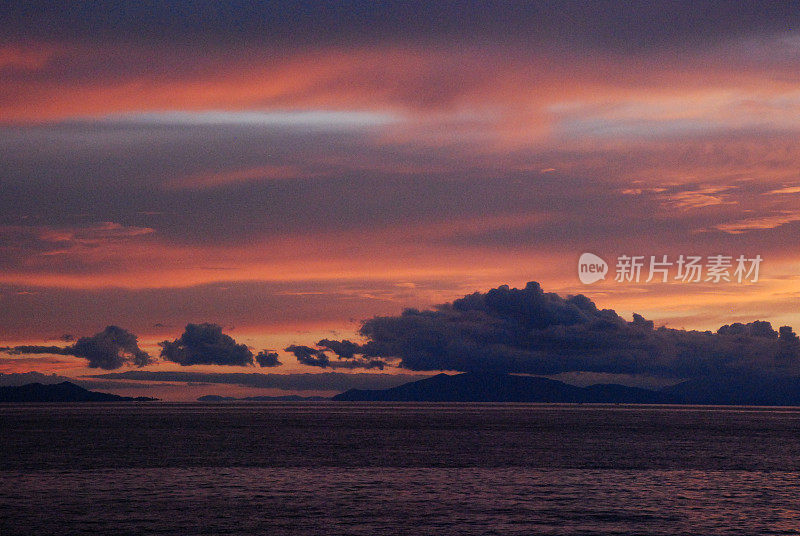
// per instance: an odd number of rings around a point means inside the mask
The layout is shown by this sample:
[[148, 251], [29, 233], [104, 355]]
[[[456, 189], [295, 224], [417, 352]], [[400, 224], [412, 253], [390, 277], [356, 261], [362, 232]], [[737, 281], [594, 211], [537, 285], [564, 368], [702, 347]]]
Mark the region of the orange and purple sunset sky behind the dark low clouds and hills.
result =
[[[12, 0], [0, 21], [0, 383], [402, 383], [407, 356], [285, 348], [530, 281], [631, 323], [800, 326], [794, 2]], [[609, 265], [590, 285], [587, 252]], [[664, 255], [762, 262], [615, 280]], [[244, 361], [197, 358], [190, 324]], [[127, 357], [89, 366], [103, 344]], [[90, 378], [119, 373], [140, 376]], [[262, 373], [291, 378], [230, 376]]]

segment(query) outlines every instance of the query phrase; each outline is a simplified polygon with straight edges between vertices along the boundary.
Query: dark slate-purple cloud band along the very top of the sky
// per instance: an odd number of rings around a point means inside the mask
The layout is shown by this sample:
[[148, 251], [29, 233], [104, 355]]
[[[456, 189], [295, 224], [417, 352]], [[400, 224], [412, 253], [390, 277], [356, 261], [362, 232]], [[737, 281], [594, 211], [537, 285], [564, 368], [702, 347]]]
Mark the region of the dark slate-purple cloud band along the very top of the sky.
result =
[[794, 2], [479, 2], [159, 3], [134, 0], [4, 5], [6, 38], [89, 41], [257, 41], [276, 45], [374, 44], [399, 40], [525, 42], [558, 39], [579, 47], [687, 46], [796, 27]]

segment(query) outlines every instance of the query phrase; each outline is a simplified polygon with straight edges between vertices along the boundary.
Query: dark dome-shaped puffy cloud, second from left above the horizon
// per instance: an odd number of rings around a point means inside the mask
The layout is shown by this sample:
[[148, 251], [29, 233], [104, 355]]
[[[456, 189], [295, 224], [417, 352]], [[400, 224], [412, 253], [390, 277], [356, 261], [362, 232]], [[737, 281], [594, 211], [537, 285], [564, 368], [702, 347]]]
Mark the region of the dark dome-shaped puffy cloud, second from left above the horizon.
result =
[[183, 366], [253, 364], [253, 352], [222, 333], [217, 324], [187, 324], [186, 330], [174, 341], [163, 341], [161, 357]]

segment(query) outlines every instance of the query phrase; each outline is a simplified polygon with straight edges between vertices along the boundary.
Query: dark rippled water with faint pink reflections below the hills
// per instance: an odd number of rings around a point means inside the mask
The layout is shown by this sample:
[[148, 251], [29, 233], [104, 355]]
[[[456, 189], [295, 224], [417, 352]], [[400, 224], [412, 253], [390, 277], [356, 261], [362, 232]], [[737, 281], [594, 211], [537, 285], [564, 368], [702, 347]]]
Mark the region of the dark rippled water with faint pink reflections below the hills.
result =
[[798, 534], [800, 411], [0, 406], [0, 534]]

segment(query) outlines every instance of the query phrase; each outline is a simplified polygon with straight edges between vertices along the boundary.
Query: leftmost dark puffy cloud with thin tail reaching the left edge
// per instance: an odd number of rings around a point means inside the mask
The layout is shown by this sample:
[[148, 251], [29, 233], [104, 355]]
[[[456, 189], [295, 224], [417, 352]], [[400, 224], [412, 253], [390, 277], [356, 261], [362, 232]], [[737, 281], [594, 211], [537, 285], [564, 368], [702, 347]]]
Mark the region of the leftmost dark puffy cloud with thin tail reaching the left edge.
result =
[[117, 326], [107, 326], [91, 337], [81, 337], [72, 346], [14, 346], [0, 350], [11, 355], [72, 355], [86, 359], [90, 368], [106, 370], [123, 365], [143, 367], [154, 362], [147, 352], [139, 349], [136, 335]]

